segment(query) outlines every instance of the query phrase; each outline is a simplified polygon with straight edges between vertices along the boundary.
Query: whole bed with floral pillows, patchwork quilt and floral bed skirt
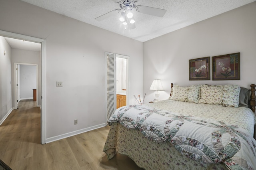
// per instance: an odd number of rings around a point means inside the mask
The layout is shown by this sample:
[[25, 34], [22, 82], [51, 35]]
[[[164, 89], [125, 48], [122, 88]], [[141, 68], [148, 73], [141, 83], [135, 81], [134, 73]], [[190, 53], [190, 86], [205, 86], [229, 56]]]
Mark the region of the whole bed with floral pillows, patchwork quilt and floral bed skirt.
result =
[[256, 169], [250, 87], [172, 85], [167, 100], [118, 108], [103, 151], [108, 159], [128, 155], [146, 170]]

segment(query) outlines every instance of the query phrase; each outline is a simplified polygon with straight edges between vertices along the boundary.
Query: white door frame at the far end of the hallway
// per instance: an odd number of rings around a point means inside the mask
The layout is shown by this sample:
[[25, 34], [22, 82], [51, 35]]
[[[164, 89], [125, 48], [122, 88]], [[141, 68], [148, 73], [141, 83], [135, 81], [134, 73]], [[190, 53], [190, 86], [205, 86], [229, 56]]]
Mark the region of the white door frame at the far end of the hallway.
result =
[[[38, 89], [38, 64], [31, 64], [31, 63], [14, 63], [14, 109], [17, 109], [17, 93], [18, 93], [18, 88], [16, 88], [17, 86], [17, 65], [34, 65], [36, 66], [36, 89]], [[16, 89], [15, 89], [16, 88]], [[38, 107], [38, 90], [36, 91], [36, 106]]]

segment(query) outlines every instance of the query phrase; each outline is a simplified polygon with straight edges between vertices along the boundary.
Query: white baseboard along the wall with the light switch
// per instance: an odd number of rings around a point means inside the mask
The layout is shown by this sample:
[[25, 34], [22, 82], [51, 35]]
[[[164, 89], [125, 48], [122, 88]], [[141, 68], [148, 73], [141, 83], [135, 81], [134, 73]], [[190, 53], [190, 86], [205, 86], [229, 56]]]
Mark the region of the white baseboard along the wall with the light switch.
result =
[[76, 130], [76, 131], [73, 131], [73, 132], [69, 132], [69, 133], [58, 135], [58, 136], [46, 138], [45, 143], [54, 142], [56, 140], [68, 138], [70, 136], [74, 136], [74, 135], [77, 135], [77, 134], [80, 134], [80, 133], [88, 132], [90, 130], [94, 130], [94, 129], [105, 127], [105, 126], [106, 126], [106, 124], [102, 123], [100, 125], [96, 125], [96, 126], [92, 126], [92, 127], [88, 127], [88, 128], [83, 128], [83, 129]]

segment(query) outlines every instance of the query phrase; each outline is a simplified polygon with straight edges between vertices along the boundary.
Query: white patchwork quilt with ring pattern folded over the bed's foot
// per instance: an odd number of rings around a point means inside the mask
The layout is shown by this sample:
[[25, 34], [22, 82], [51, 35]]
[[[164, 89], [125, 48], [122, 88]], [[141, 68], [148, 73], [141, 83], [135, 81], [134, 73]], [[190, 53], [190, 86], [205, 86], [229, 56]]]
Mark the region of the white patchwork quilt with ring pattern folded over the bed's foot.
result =
[[256, 169], [256, 141], [248, 130], [237, 125], [146, 105], [121, 107], [108, 124], [113, 122], [138, 129], [151, 141], [168, 142], [202, 164], [223, 162], [234, 170]]

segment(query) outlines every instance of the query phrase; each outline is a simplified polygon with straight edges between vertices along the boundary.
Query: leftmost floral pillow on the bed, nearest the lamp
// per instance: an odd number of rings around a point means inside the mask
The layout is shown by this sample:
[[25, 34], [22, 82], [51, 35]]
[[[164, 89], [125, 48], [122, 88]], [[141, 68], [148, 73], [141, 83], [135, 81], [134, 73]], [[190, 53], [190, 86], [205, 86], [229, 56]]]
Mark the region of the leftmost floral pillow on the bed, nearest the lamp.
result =
[[187, 101], [187, 102], [199, 102], [200, 85], [191, 85], [190, 87], [179, 87], [174, 85], [172, 87], [171, 100]]

